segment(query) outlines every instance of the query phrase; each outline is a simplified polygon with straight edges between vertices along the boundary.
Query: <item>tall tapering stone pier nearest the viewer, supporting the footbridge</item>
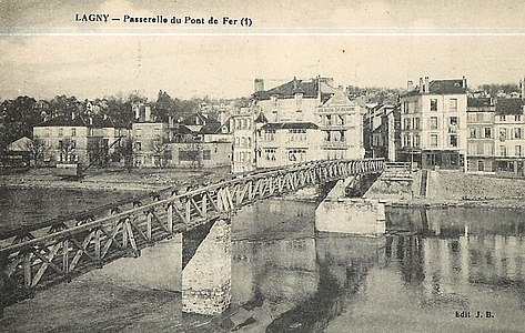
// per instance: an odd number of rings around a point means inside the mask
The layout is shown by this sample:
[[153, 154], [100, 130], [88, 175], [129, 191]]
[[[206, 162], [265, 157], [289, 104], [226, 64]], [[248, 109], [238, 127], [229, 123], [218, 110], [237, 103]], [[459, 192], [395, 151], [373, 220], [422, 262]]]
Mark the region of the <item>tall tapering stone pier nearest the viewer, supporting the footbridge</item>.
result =
[[222, 313], [231, 303], [231, 221], [184, 232], [182, 246], [182, 311]]

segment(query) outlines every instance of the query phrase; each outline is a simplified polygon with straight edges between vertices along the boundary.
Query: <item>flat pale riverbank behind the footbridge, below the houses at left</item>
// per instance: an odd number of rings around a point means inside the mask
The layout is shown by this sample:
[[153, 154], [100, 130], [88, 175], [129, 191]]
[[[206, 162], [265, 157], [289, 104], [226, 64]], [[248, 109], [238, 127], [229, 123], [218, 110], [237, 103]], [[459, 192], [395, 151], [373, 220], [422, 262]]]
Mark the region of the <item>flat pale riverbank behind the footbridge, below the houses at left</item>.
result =
[[27, 173], [0, 175], [0, 186], [68, 190], [155, 191], [196, 181], [211, 181], [228, 175], [229, 168], [205, 170], [133, 169], [93, 170], [81, 180], [64, 180], [54, 169], [30, 170]]

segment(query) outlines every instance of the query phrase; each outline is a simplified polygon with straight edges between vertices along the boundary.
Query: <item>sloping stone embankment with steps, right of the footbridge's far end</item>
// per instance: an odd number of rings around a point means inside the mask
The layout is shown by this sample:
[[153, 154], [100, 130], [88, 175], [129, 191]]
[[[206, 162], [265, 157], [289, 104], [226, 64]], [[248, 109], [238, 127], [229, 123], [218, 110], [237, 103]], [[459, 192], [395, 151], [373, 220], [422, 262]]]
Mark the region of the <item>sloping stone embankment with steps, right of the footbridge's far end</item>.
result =
[[391, 206], [508, 208], [525, 209], [525, 180], [465, 174], [461, 171], [428, 171], [426, 195], [420, 194], [421, 173], [413, 173], [410, 191], [367, 193]]

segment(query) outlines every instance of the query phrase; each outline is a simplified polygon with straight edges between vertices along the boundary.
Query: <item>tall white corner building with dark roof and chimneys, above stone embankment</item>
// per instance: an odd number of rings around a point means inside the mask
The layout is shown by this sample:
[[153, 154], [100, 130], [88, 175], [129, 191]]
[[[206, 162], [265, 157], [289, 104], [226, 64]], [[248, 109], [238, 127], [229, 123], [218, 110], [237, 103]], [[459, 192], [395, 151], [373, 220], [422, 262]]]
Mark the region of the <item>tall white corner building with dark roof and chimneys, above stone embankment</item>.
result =
[[466, 79], [420, 79], [401, 97], [401, 159], [422, 168], [461, 169], [466, 159]]

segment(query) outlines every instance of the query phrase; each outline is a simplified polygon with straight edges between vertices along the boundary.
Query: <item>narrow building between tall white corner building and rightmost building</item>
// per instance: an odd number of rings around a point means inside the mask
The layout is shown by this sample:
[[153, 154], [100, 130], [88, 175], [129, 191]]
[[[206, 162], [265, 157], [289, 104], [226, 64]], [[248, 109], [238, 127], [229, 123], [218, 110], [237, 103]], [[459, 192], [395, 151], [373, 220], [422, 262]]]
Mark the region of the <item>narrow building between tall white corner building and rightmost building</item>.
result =
[[493, 173], [494, 164], [494, 114], [496, 107], [491, 98], [468, 98], [467, 122], [467, 171]]

